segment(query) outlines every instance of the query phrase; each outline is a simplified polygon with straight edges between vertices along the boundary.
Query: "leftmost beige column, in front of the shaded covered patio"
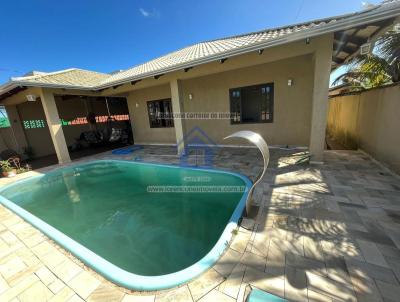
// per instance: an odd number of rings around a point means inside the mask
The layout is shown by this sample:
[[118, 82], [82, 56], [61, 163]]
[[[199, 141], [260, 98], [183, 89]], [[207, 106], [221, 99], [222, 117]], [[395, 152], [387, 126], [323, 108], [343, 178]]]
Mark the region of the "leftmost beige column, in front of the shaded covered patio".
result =
[[41, 89], [40, 99], [42, 101], [44, 114], [46, 115], [46, 121], [49, 126], [54, 149], [56, 149], [58, 162], [60, 164], [69, 163], [71, 162], [71, 158], [69, 157], [68, 147], [65, 142], [64, 132], [62, 130], [60, 117], [58, 116], [54, 95], [46, 89]]

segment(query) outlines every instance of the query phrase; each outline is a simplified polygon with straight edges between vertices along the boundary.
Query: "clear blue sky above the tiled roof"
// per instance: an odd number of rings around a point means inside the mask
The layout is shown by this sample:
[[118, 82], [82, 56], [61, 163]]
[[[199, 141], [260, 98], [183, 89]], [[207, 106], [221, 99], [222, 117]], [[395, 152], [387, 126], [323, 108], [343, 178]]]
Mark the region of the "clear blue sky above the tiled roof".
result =
[[31, 70], [113, 72], [197, 42], [360, 9], [360, 0], [2, 1], [0, 83]]

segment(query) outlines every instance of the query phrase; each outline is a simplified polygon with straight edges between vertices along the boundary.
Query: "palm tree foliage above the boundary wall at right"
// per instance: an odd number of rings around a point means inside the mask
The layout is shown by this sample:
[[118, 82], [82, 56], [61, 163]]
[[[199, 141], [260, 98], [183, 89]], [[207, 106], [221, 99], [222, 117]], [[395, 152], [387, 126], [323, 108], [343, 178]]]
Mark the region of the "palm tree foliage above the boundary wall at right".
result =
[[390, 30], [375, 42], [372, 54], [356, 56], [347, 72], [333, 85], [350, 83], [353, 90], [379, 87], [400, 81], [400, 31]]

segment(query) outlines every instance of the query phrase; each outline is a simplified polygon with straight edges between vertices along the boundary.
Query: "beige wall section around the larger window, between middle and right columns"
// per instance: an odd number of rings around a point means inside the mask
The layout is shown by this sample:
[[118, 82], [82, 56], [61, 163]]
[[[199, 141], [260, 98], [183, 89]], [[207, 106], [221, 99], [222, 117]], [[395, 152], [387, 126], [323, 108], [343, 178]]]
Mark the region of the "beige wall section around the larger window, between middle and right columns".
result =
[[[184, 81], [184, 108], [187, 112], [229, 112], [230, 88], [274, 83], [272, 123], [232, 125], [229, 119], [189, 119], [186, 129], [190, 131], [198, 126], [218, 144], [231, 144], [223, 138], [235, 131], [252, 130], [272, 145], [307, 146], [311, 123], [312, 70], [311, 56], [301, 56]], [[288, 79], [293, 79], [293, 86], [287, 85]], [[189, 93], [193, 95], [192, 100], [188, 99]]]

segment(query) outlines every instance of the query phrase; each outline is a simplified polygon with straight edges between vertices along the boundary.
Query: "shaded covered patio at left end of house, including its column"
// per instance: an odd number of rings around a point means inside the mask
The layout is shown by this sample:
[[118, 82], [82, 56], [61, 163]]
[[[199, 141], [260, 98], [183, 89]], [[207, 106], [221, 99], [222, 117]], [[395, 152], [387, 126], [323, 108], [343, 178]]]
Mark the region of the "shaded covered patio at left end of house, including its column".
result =
[[133, 143], [124, 97], [19, 92], [3, 103], [10, 125], [0, 129], [1, 151], [15, 150], [33, 169]]

